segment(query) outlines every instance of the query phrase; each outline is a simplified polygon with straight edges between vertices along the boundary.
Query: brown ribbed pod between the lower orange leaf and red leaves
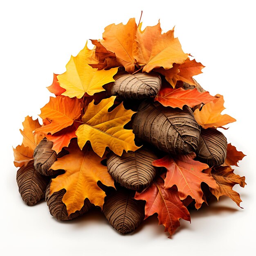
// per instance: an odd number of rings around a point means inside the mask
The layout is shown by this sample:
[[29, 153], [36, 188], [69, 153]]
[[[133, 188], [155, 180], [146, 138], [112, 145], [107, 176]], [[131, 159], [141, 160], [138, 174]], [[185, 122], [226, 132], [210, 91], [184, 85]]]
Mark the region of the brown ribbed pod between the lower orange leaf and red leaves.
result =
[[152, 162], [158, 157], [143, 147], [135, 152], [124, 152], [121, 157], [111, 152], [108, 155], [108, 172], [119, 184], [127, 189], [142, 190], [153, 181], [157, 169]]

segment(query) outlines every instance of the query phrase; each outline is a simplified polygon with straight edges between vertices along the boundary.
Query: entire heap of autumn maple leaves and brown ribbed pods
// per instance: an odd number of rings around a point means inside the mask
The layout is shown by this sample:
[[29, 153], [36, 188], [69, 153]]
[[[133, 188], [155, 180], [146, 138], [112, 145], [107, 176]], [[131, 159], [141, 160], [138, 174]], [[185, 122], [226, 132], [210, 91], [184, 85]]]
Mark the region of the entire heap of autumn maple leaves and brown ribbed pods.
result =
[[54, 74], [55, 97], [41, 108], [42, 125], [25, 118], [14, 164], [23, 200], [45, 198], [58, 220], [100, 207], [128, 233], [157, 213], [171, 236], [211, 196], [240, 206], [232, 188], [245, 177], [231, 166], [245, 155], [216, 129], [236, 120], [221, 115], [222, 95], [193, 79], [204, 66], [173, 29], [141, 27], [134, 18], [107, 26]]

